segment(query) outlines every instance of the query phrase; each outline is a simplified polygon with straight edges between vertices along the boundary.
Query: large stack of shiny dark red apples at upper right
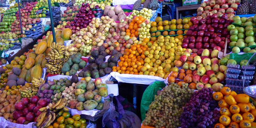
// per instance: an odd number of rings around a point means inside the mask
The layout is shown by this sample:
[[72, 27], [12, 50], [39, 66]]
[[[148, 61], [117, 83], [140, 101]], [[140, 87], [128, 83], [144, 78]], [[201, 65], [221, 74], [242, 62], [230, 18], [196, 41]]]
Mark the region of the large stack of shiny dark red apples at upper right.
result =
[[[216, 14], [209, 15], [206, 19], [198, 19], [192, 17], [190, 19], [193, 26], [189, 28], [186, 35], [187, 38], [182, 40], [183, 48], [190, 49], [214, 49], [219, 46], [222, 50], [225, 49], [225, 41], [230, 42], [230, 35], [227, 27], [233, 22], [228, 20], [227, 15], [217, 18]], [[202, 52], [202, 50], [200, 50]], [[229, 52], [227, 52], [229, 53]], [[200, 56], [200, 54], [198, 54]]]

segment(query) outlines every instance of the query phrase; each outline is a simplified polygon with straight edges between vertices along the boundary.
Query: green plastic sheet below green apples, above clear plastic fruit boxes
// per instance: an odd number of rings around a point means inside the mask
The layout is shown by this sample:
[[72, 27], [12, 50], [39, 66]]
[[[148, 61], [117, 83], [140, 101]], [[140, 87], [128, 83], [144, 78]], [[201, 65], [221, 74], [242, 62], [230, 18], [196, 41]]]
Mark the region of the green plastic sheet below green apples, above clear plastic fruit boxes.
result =
[[[229, 58], [234, 59], [237, 61], [237, 64], [240, 64], [242, 60], [249, 60], [254, 53], [244, 53], [244, 54], [237, 54], [237, 53], [231, 53]], [[255, 61], [256, 56], [251, 59], [251, 62]]]

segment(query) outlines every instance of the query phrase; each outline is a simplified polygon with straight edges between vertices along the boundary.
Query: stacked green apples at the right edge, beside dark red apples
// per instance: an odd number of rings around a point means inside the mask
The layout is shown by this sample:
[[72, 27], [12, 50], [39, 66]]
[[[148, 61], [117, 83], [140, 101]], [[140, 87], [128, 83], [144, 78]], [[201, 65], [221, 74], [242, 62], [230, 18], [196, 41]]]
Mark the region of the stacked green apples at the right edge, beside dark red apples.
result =
[[[242, 27], [236, 27], [234, 25], [229, 25], [228, 30], [230, 32], [230, 42], [229, 46], [232, 48], [233, 53], [240, 53], [241, 50], [245, 53], [255, 53], [254, 49], [255, 43], [255, 25], [256, 15], [254, 18], [246, 18], [239, 16], [234, 17], [235, 25], [241, 25]], [[251, 49], [252, 48], [252, 49]], [[241, 50], [240, 50], [241, 49]]]

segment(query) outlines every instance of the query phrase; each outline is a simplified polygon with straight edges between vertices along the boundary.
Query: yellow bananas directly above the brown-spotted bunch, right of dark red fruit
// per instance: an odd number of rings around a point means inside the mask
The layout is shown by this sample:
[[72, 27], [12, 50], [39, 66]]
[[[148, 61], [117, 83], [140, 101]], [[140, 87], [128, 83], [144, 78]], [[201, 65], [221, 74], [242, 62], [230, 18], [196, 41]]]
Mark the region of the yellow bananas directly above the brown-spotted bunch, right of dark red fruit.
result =
[[[67, 100], [64, 98], [64, 96], [61, 96], [61, 98], [58, 102], [53, 103], [53, 104], [49, 103], [49, 105], [47, 105], [46, 107], [40, 108], [39, 111], [45, 112], [49, 109], [53, 112], [57, 112], [60, 109], [63, 109], [65, 107], [66, 103], [67, 103]], [[66, 109], [68, 109], [68, 108], [66, 108]]]

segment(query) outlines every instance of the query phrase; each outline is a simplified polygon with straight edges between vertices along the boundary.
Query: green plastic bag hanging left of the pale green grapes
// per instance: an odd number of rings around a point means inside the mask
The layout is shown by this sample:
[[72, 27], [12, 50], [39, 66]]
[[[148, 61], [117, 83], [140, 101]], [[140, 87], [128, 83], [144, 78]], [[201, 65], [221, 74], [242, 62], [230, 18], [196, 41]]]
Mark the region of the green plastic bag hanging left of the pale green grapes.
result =
[[166, 84], [164, 82], [156, 81], [150, 86], [148, 86], [147, 89], [144, 91], [142, 95], [141, 103], [140, 103], [140, 113], [141, 113], [142, 121], [145, 119], [146, 112], [151, 102], [154, 101], [155, 95], [157, 95], [157, 91], [162, 90], [163, 87], [165, 86]]

